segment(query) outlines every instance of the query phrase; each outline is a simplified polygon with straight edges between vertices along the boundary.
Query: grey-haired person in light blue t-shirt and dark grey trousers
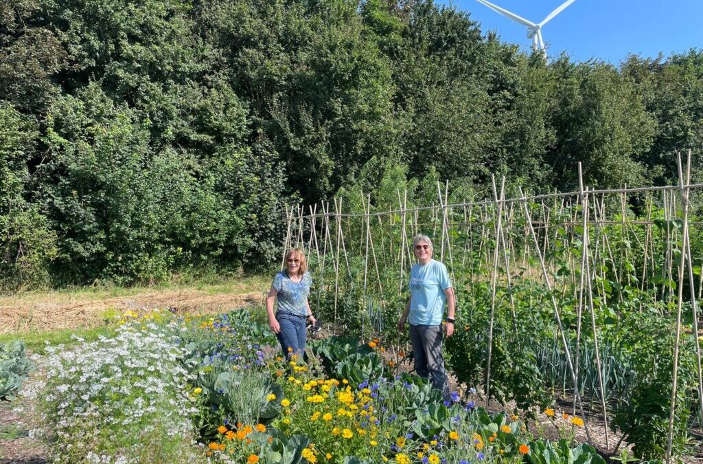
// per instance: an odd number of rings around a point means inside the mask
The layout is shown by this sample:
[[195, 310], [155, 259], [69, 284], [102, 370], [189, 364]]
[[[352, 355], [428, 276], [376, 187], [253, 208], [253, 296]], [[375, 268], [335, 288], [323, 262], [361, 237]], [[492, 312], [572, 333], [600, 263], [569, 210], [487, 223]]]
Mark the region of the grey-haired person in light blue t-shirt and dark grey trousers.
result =
[[[410, 298], [398, 321], [398, 330], [404, 330], [406, 321], [410, 321], [415, 371], [420, 377], [429, 378], [432, 385], [448, 398], [441, 341], [445, 332], [446, 337], [454, 333], [454, 290], [446, 266], [432, 259], [430, 237], [417, 235], [413, 239], [413, 251], [418, 262], [410, 271]], [[447, 318], [443, 332], [444, 303], [447, 303]]]

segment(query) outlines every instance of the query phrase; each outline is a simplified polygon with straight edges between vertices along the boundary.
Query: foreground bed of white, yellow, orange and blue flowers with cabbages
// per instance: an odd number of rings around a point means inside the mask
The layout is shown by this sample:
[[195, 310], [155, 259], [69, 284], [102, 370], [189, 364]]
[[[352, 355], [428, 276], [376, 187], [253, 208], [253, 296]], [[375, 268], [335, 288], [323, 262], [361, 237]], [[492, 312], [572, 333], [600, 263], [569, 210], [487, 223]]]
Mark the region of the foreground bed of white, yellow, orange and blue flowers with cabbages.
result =
[[34, 394], [56, 462], [604, 462], [516, 415], [443, 401], [368, 345], [319, 341], [303, 362], [247, 313], [129, 319], [115, 338], [51, 349]]

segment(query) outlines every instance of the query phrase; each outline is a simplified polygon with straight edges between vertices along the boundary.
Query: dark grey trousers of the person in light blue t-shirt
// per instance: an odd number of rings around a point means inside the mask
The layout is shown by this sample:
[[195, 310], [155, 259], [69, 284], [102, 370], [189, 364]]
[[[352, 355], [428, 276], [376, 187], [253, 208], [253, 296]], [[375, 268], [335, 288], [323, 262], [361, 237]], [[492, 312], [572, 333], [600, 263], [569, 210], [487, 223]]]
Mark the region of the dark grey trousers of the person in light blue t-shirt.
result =
[[413, 343], [415, 371], [420, 377], [429, 378], [434, 388], [449, 397], [444, 358], [441, 356], [441, 341], [444, 331], [441, 325], [410, 325], [410, 339]]

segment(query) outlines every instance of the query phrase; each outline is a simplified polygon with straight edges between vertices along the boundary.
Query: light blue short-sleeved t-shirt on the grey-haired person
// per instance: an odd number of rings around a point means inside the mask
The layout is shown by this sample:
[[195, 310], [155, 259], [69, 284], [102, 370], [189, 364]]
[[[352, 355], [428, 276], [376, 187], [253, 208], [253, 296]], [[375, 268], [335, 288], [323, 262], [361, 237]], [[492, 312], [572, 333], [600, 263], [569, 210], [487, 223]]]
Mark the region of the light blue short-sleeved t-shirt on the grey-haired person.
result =
[[449, 272], [439, 261], [415, 263], [410, 270], [410, 316], [412, 325], [440, 325], [446, 296], [451, 287]]

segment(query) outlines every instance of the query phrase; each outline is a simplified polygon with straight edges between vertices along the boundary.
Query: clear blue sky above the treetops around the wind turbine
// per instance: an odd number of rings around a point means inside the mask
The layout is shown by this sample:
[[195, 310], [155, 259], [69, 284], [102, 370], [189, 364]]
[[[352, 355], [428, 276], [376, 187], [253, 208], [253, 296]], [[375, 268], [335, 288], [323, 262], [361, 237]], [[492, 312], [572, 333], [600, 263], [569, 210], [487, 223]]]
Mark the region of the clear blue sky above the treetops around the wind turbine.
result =
[[[503, 42], [528, 50], [527, 27], [495, 13], [476, 0], [436, 0], [453, 4], [495, 30]], [[539, 23], [565, 0], [488, 0]], [[619, 63], [628, 54], [655, 57], [703, 49], [703, 0], [576, 0], [542, 29], [547, 53], [566, 51], [579, 61], [598, 58]]]

